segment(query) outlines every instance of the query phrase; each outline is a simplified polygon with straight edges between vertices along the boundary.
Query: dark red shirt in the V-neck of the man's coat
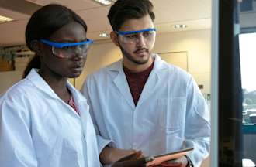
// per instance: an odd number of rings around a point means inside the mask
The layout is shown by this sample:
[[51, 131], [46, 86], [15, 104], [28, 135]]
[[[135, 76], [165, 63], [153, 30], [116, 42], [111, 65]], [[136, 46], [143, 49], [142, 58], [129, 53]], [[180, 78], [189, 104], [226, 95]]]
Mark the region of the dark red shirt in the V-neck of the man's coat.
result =
[[140, 99], [140, 94], [144, 88], [145, 83], [147, 82], [147, 78], [150, 75], [151, 70], [154, 67], [154, 62], [148, 67], [146, 70], [133, 73], [125, 66], [123, 66], [123, 71], [126, 74], [126, 80], [130, 87], [130, 92], [133, 97], [134, 104], [137, 105], [137, 102]]

